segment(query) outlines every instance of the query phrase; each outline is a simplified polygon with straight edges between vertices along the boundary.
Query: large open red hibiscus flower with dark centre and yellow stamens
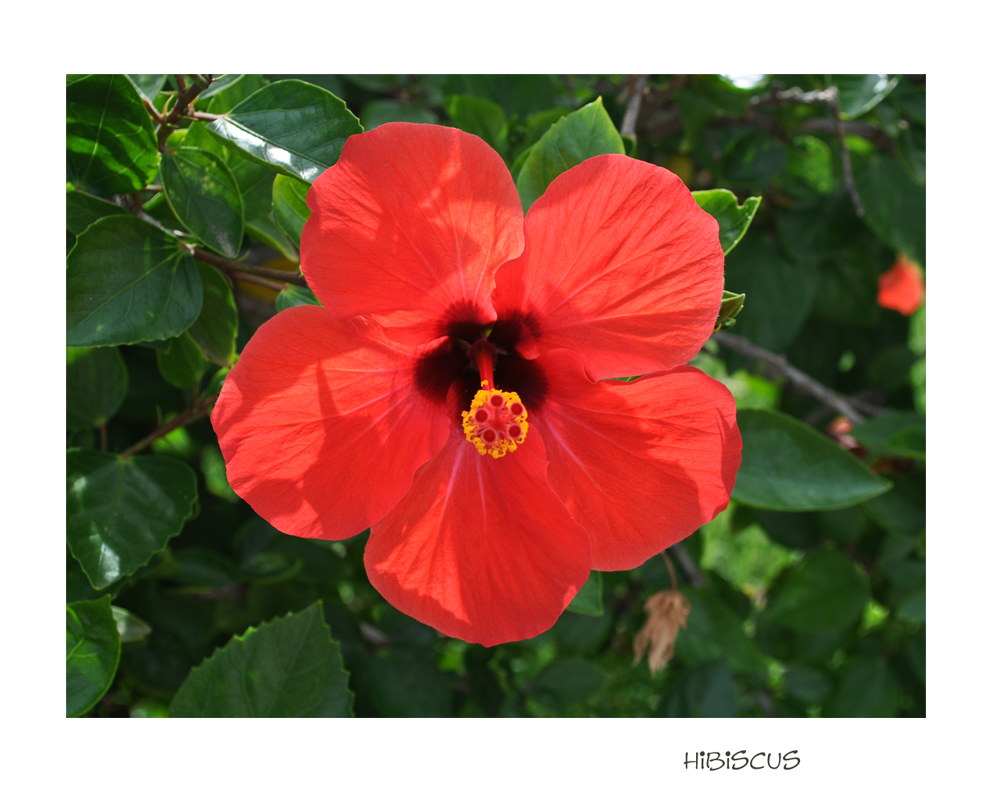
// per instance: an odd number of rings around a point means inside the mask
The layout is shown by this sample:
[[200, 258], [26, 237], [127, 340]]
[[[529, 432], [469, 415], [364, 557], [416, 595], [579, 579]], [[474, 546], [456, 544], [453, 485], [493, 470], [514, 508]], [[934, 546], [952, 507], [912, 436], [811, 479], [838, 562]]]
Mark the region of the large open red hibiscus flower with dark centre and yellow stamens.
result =
[[279, 530], [370, 527], [390, 603], [494, 645], [726, 506], [733, 398], [683, 366], [722, 251], [675, 175], [599, 156], [524, 217], [482, 140], [391, 123], [352, 136], [308, 203], [324, 305], [262, 325], [212, 414], [233, 489]]

